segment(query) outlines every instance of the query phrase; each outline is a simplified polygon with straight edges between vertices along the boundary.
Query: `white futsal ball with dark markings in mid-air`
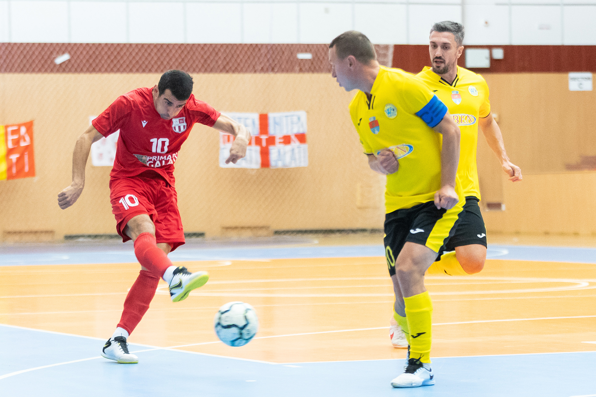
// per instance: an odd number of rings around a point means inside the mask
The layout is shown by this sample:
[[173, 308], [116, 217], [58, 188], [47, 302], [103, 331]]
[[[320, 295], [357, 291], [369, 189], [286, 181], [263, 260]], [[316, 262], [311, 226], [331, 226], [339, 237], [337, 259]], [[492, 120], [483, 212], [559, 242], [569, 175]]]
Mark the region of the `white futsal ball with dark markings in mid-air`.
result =
[[259, 330], [259, 318], [253, 306], [244, 302], [228, 302], [215, 315], [213, 327], [219, 340], [228, 346], [244, 346]]

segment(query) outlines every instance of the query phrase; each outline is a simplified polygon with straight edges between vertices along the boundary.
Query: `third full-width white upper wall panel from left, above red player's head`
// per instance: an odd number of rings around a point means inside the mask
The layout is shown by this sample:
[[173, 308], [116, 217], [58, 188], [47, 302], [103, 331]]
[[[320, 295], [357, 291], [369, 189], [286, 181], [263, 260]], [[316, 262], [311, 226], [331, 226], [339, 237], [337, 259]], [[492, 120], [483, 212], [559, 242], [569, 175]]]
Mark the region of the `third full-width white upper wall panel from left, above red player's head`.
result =
[[131, 43], [184, 43], [184, 5], [179, 2], [129, 2]]

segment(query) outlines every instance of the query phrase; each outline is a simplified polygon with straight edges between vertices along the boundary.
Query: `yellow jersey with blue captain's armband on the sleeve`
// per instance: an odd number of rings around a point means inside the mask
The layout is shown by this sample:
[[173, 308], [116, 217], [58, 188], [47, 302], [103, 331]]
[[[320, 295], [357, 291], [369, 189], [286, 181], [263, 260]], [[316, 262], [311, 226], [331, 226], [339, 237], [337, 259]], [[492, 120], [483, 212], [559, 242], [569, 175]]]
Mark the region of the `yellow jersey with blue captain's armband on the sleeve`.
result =
[[[398, 171], [387, 175], [386, 213], [434, 200], [441, 187], [441, 141], [432, 127], [446, 112], [421, 79], [384, 66], [370, 97], [359, 91], [350, 102], [364, 153], [390, 148], [399, 162]], [[456, 192], [460, 194], [457, 184]]]

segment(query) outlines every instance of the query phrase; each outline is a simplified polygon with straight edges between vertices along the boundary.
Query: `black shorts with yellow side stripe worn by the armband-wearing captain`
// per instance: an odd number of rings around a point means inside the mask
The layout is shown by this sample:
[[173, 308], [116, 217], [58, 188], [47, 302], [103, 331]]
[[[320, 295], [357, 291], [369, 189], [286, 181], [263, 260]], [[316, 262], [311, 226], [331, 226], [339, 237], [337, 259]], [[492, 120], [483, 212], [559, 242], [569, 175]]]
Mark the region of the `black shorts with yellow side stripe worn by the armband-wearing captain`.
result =
[[433, 201], [411, 208], [399, 209], [385, 215], [385, 256], [389, 274], [395, 274], [395, 259], [406, 241], [429, 247], [434, 252], [444, 247], [455, 234], [462, 202], [449, 210], [437, 209]]

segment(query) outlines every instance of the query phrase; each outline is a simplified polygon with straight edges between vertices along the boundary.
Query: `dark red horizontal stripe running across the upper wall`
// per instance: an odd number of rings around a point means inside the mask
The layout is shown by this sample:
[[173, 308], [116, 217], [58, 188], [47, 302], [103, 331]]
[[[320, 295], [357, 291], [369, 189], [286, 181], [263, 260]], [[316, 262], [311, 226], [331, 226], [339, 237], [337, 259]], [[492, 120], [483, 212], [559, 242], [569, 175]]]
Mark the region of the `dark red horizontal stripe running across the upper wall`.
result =
[[[502, 60], [479, 73], [596, 72], [594, 45], [499, 45]], [[54, 59], [68, 52], [70, 60]], [[312, 59], [296, 54], [310, 52]], [[430, 64], [428, 46], [393, 46], [393, 66], [417, 73]], [[465, 66], [465, 54], [460, 58]], [[329, 73], [327, 44], [76, 44], [0, 43], [0, 73]]]

